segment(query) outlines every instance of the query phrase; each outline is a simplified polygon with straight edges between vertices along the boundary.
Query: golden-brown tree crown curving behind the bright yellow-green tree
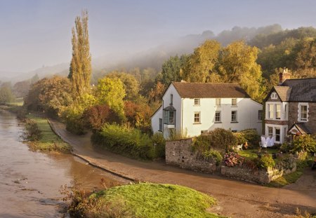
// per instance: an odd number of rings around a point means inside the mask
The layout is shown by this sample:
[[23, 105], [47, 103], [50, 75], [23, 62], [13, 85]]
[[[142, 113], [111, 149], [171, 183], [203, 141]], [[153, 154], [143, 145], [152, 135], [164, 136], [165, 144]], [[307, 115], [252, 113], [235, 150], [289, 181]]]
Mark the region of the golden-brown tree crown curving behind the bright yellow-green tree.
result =
[[112, 71], [110, 74], [107, 74], [106, 77], [117, 78], [123, 82], [124, 90], [126, 92], [124, 100], [136, 100], [140, 88], [135, 76], [124, 72]]

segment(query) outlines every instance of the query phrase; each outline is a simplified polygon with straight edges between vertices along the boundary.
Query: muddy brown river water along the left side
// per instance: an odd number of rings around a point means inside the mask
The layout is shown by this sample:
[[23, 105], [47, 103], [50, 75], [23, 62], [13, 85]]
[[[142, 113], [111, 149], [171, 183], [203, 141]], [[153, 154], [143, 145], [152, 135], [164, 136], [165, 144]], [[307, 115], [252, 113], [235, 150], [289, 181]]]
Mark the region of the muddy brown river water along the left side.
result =
[[30, 151], [24, 127], [14, 114], [0, 111], [0, 217], [65, 217], [60, 186], [74, 179], [82, 189], [99, 189], [100, 179], [125, 182], [70, 154]]

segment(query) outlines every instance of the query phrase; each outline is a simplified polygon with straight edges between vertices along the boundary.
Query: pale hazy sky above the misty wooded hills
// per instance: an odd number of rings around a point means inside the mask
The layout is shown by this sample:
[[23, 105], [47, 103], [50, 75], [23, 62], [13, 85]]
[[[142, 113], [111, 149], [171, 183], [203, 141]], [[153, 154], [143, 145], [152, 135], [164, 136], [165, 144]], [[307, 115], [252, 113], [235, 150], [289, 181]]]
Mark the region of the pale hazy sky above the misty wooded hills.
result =
[[312, 0], [0, 0], [0, 71], [69, 62], [74, 18], [84, 8], [93, 57], [145, 50], [207, 29], [316, 27]]

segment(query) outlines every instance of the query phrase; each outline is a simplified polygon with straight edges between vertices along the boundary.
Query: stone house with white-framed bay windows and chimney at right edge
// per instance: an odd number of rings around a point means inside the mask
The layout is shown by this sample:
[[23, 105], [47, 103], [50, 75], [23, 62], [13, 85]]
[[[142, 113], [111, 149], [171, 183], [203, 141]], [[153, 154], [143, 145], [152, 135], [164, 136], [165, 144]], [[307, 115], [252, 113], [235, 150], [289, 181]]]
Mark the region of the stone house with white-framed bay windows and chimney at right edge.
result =
[[286, 69], [279, 86], [265, 97], [265, 136], [282, 144], [291, 135], [316, 133], [316, 78], [290, 79]]

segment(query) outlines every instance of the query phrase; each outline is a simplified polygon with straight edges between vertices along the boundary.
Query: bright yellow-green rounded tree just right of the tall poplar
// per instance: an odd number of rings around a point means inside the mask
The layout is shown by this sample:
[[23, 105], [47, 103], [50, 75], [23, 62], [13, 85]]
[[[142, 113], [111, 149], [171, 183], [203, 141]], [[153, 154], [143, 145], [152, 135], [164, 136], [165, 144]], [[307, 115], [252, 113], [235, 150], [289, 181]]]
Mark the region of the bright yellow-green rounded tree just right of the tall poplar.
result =
[[117, 112], [119, 116], [124, 116], [124, 97], [126, 93], [124, 84], [118, 78], [99, 79], [96, 88], [98, 104], [107, 104], [110, 109]]

